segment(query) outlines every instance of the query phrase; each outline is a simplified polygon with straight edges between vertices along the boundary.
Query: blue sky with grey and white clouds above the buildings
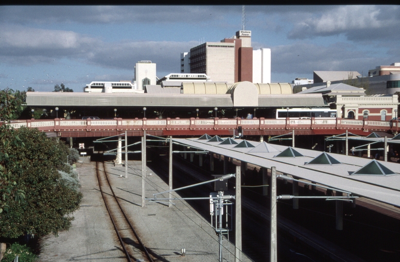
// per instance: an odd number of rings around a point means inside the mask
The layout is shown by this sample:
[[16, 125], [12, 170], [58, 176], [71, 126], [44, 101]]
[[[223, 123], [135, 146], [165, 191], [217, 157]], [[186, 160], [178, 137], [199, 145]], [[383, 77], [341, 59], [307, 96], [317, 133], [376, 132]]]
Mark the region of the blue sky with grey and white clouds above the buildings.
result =
[[[400, 6], [245, 6], [254, 49], [270, 48], [271, 81], [315, 70], [367, 74], [400, 62]], [[0, 89], [83, 92], [91, 81], [180, 71], [180, 53], [242, 29], [242, 6], [0, 6]]]

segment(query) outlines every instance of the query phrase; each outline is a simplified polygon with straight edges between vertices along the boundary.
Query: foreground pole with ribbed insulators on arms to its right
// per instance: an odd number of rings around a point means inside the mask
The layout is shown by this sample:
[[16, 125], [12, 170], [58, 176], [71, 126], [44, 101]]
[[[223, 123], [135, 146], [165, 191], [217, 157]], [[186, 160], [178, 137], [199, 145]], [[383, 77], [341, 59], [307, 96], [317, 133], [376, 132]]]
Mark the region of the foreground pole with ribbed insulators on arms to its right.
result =
[[270, 262], [277, 262], [277, 168], [271, 167], [271, 238], [269, 244]]

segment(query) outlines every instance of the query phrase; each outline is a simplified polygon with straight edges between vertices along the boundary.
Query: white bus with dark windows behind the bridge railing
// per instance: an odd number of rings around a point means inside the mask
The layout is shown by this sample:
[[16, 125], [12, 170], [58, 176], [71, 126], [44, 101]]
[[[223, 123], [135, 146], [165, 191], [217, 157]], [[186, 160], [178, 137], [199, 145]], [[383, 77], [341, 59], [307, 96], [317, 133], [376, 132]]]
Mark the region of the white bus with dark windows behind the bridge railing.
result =
[[277, 109], [275, 114], [277, 119], [286, 119], [286, 117], [292, 119], [299, 118], [330, 118], [336, 117], [336, 110], [330, 108], [290, 108], [287, 109]]

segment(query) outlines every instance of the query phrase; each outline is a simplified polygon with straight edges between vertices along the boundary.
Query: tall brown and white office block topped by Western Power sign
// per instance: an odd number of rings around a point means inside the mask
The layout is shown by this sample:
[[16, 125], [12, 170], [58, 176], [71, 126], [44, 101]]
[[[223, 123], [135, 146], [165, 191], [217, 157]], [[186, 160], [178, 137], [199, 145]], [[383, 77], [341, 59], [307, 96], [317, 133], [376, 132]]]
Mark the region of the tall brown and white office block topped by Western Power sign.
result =
[[251, 31], [202, 43], [180, 58], [181, 73], [204, 73], [215, 82], [271, 82], [271, 49], [253, 50]]

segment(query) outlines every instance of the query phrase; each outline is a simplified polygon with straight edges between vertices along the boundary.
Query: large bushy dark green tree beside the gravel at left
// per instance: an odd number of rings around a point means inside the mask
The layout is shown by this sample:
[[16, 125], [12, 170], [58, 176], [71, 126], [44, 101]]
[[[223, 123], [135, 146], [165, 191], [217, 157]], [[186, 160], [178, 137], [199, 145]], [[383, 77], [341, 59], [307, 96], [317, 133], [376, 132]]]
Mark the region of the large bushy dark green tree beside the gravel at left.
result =
[[[14, 191], [25, 192], [25, 201], [9, 201], [8, 212], [0, 213], [0, 242], [23, 234], [40, 237], [69, 229], [73, 219], [71, 214], [78, 209], [82, 195], [77, 192], [76, 184], [71, 184], [74, 181], [65, 174], [62, 177], [59, 172], [70, 170], [66, 166], [70, 153], [67, 145], [57, 138], [47, 138], [37, 129], [5, 129], [2, 132], [5, 141], [19, 138], [19, 143], [8, 147], [0, 145], [0, 151], [8, 155], [18, 152], [12, 160], [19, 167], [8, 174], [16, 182]], [[12, 163], [1, 164], [10, 169]], [[3, 187], [2, 183], [0, 187]]]

